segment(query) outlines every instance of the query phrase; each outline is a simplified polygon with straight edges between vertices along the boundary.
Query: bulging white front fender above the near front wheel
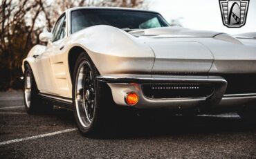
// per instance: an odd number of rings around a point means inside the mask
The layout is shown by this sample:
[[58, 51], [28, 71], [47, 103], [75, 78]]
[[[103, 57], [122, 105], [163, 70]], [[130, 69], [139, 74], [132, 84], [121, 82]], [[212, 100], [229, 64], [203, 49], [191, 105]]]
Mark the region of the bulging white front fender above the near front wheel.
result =
[[93, 26], [75, 32], [68, 39], [70, 49], [86, 50], [100, 74], [150, 73], [154, 65], [153, 50], [138, 38], [112, 26]]

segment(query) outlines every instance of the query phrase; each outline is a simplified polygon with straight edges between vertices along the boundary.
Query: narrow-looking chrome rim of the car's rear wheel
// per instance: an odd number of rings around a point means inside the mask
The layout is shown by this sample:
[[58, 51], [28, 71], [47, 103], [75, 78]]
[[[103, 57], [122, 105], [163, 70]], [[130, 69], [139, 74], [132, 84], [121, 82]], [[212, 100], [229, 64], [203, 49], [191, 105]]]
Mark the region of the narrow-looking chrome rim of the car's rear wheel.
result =
[[25, 75], [24, 94], [25, 94], [26, 106], [29, 108], [30, 102], [31, 102], [31, 75], [29, 71], [27, 71]]

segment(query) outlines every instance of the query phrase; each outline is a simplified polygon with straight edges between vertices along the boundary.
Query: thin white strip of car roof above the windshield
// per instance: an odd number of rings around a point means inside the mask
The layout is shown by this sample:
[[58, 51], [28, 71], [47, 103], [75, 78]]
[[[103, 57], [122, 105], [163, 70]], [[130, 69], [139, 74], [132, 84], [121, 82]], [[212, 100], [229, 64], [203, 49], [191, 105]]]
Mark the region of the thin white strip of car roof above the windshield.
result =
[[121, 7], [74, 7], [74, 8], [69, 8], [66, 11], [70, 12], [73, 10], [131, 10], [131, 11], [139, 11], [139, 12], [152, 12], [159, 14], [158, 12], [151, 11], [151, 10], [143, 10], [143, 9], [137, 9], [137, 8], [121, 8]]

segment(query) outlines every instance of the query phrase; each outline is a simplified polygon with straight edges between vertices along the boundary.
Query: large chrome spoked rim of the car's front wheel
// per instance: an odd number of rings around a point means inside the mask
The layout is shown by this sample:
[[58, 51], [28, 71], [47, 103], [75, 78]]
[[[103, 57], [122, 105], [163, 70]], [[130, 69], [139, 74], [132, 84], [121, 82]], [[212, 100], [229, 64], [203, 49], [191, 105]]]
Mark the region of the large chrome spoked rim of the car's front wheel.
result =
[[95, 112], [95, 84], [91, 70], [88, 62], [82, 62], [75, 77], [75, 107], [83, 127], [91, 125]]

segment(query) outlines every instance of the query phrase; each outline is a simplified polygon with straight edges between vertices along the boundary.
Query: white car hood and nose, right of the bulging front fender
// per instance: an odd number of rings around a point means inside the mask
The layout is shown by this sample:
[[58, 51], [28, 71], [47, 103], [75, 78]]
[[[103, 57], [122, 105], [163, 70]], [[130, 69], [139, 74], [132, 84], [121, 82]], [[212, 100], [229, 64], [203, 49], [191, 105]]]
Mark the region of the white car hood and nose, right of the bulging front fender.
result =
[[255, 39], [180, 27], [129, 33], [154, 51], [153, 73], [256, 72]]

